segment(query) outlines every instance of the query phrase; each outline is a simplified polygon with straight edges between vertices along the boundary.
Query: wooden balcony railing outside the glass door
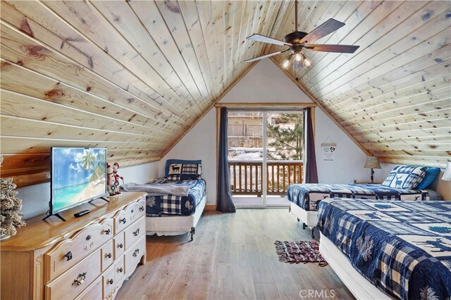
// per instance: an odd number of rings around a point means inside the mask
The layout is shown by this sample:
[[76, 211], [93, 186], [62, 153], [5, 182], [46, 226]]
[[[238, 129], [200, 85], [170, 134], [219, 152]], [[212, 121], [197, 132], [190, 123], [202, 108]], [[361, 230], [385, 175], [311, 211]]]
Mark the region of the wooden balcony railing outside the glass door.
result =
[[[233, 195], [261, 196], [262, 161], [229, 161], [228, 165]], [[291, 184], [302, 183], [303, 167], [303, 161], [267, 161], [267, 194], [285, 196]]]

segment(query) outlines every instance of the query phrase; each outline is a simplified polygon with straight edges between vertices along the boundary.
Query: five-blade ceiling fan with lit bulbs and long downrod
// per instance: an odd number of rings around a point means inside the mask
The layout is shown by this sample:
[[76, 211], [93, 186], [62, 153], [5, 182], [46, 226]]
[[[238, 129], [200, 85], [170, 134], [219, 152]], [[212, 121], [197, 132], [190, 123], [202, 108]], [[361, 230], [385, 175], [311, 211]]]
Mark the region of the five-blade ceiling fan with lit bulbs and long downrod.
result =
[[270, 54], [266, 54], [264, 56], [258, 56], [255, 58], [247, 59], [245, 62], [250, 63], [252, 61], [259, 61], [260, 59], [275, 56], [278, 54], [283, 54], [284, 52], [291, 51], [290, 57], [283, 62], [283, 67], [288, 68], [290, 64], [290, 58], [293, 58], [293, 69], [299, 69], [304, 66], [308, 67], [311, 65], [311, 62], [305, 57], [302, 53], [303, 49], [311, 50], [311, 51], [322, 51], [322, 52], [338, 52], [338, 53], [354, 53], [359, 46], [354, 45], [318, 45], [311, 44], [315, 42], [317, 39], [321, 39], [321, 37], [326, 37], [330, 33], [338, 30], [338, 28], [345, 26], [345, 23], [342, 23], [338, 20], [330, 18], [323, 24], [316, 27], [311, 32], [302, 32], [297, 30], [297, 1], [295, 1], [295, 31], [285, 35], [283, 37], [283, 41], [278, 39], [273, 39], [272, 37], [266, 37], [264, 35], [254, 34], [246, 39], [249, 41], [256, 42], [264, 42], [268, 44], [276, 44], [280, 46], [289, 46], [288, 49], [273, 52]]

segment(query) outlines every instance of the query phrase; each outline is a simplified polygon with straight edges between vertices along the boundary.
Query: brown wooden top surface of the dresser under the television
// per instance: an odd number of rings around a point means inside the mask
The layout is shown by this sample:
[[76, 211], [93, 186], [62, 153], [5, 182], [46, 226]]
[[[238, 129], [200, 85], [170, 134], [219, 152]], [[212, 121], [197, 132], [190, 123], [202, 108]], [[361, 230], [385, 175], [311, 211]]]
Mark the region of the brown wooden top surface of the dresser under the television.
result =
[[[143, 192], [123, 192], [117, 199], [109, 199], [106, 202], [96, 199], [92, 203], [82, 204], [75, 208], [63, 211], [60, 215], [66, 219], [63, 222], [56, 216], [42, 220], [45, 215], [25, 220], [25, 227], [17, 229], [17, 235], [0, 242], [0, 251], [32, 251], [55, 244], [63, 237], [70, 237], [74, 232], [97, 222], [115, 211], [120, 210], [132, 201], [137, 201]], [[75, 218], [74, 213], [89, 209], [91, 212]]]

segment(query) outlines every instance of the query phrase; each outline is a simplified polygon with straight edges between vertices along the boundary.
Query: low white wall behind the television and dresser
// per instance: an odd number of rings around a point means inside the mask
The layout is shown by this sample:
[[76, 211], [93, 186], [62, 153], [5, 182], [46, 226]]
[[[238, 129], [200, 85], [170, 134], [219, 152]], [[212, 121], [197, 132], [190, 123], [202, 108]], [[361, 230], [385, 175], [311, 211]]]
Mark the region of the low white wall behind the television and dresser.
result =
[[[118, 173], [124, 177], [125, 182], [145, 183], [157, 177], [158, 169], [159, 163], [155, 162], [120, 168]], [[22, 187], [18, 189], [18, 192], [18, 198], [22, 199], [22, 211], [25, 220], [45, 213], [49, 209], [50, 183]]]

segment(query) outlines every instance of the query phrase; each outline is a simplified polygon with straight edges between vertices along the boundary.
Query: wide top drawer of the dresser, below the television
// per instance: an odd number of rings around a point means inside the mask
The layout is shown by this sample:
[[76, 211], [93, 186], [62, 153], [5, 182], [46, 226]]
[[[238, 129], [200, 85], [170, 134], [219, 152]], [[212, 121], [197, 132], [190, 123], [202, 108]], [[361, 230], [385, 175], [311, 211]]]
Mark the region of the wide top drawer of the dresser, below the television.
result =
[[[113, 238], [113, 219], [107, 218], [75, 232], [44, 254], [44, 283], [54, 280], [83, 258]], [[99, 261], [100, 263], [100, 261]]]

